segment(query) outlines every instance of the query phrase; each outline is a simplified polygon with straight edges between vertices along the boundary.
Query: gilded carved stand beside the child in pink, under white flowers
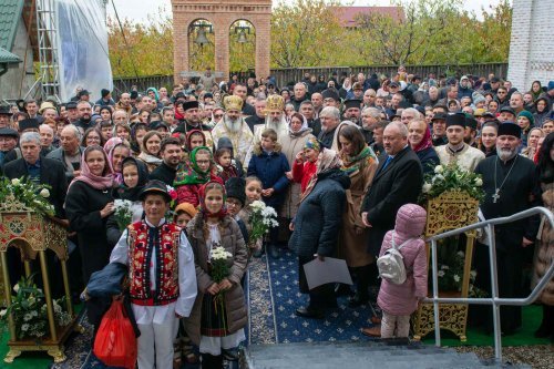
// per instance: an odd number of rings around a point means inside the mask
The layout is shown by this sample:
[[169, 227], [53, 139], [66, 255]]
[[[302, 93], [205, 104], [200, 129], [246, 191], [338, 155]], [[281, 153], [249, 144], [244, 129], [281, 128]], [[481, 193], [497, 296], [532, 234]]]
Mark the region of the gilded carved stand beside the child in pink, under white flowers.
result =
[[[465, 192], [451, 191], [430, 199], [427, 203], [425, 237], [431, 237], [451, 229], [461, 228], [478, 222], [479, 201], [468, 196]], [[462, 277], [462, 291], [440, 291], [440, 297], [468, 297], [470, 285], [471, 259], [475, 232], [466, 232], [465, 259]], [[430, 244], [427, 244], [428, 262]], [[440, 247], [440, 244], [438, 245]], [[430, 264], [429, 264], [430, 265]], [[429, 275], [431, 278], [431, 275]], [[440, 328], [452, 331], [465, 342], [468, 324], [468, 304], [440, 304]], [[434, 331], [433, 304], [420, 304], [412, 315], [413, 339], [420, 340]]]

